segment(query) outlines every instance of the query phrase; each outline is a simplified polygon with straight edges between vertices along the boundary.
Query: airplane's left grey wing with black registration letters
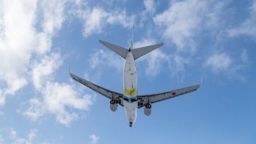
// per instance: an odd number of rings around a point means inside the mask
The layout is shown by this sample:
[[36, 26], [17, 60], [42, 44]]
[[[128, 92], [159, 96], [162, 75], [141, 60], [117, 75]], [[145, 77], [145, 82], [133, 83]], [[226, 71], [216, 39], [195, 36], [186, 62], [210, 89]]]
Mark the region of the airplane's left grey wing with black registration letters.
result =
[[103, 88], [101, 86], [98, 86], [96, 84], [93, 84], [92, 82], [89, 82], [88, 80], [84, 80], [74, 74], [71, 74], [70, 73], [70, 76], [76, 80], [77, 82], [79, 82], [80, 84], [83, 84], [84, 86], [94, 90], [95, 92], [98, 92], [99, 94], [105, 96], [106, 98], [109, 98], [109, 99], [120, 99], [121, 100], [121, 103], [119, 104], [120, 106], [124, 106], [123, 104], [123, 94], [119, 93], [119, 92], [114, 92], [114, 91], [111, 91], [111, 90], [108, 90], [106, 88]]

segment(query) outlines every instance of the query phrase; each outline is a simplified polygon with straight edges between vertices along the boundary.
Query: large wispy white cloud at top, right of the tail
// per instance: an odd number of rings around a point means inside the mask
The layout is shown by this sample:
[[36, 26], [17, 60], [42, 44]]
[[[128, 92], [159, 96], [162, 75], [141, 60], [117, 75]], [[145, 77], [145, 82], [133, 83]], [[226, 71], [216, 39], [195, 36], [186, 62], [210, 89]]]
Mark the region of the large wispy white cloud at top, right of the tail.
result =
[[153, 20], [156, 26], [163, 30], [162, 37], [176, 44], [179, 51], [185, 47], [194, 52], [195, 42], [192, 39], [201, 28], [207, 3], [198, 0], [173, 2], [168, 10], [157, 14]]

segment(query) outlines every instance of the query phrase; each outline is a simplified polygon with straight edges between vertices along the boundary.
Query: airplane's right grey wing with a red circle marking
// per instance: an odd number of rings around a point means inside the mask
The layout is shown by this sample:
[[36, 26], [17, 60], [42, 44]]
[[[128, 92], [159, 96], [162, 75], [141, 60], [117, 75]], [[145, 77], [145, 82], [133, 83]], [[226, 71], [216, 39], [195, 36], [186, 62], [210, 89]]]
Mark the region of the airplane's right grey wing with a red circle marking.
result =
[[201, 84], [197, 84], [194, 86], [180, 88], [180, 89], [172, 90], [172, 91], [168, 91], [168, 92], [161, 92], [158, 94], [140, 95], [140, 96], [138, 96], [138, 101], [143, 102], [143, 105], [140, 105], [138, 108], [141, 108], [148, 103], [153, 104], [156, 102], [161, 102], [163, 100], [168, 100], [170, 98], [175, 98], [177, 96], [181, 96], [181, 95], [187, 94], [189, 92], [194, 92], [198, 88], [200, 88], [200, 86], [201, 86]]

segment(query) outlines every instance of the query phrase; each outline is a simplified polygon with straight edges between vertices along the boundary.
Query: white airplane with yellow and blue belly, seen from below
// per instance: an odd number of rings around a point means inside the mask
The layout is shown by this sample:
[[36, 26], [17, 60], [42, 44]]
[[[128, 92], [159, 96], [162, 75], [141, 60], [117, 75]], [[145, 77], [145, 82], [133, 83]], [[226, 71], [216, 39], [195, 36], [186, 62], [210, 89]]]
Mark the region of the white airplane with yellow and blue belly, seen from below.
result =
[[194, 92], [198, 88], [200, 88], [202, 84], [202, 80], [201, 80], [200, 84], [196, 84], [194, 86], [188, 86], [186, 88], [180, 88], [180, 89], [171, 90], [167, 92], [160, 92], [156, 94], [137, 95], [138, 83], [137, 83], [137, 71], [136, 71], [135, 60], [153, 50], [156, 50], [157, 48], [160, 48], [161, 46], [163, 46], [164, 43], [133, 49], [133, 31], [134, 30], [132, 30], [131, 45], [129, 49], [99, 40], [101, 44], [108, 47], [110, 50], [116, 52], [116, 54], [122, 56], [122, 58], [125, 58], [124, 72], [123, 72], [123, 86], [124, 86], [123, 93], [114, 92], [112, 90], [103, 88], [102, 86], [93, 84], [88, 80], [84, 80], [83, 78], [80, 78], [70, 73], [70, 67], [69, 67], [69, 73], [72, 79], [76, 80], [80, 84], [83, 84], [84, 86], [110, 99], [111, 111], [115, 112], [118, 108], [118, 105], [125, 107], [126, 118], [130, 123], [129, 127], [132, 127], [132, 124], [134, 124], [134, 122], [136, 121], [138, 108], [144, 107], [144, 114], [146, 116], [150, 116], [152, 113], [151, 104], [154, 104], [156, 102], [161, 102], [163, 100], [168, 100], [170, 98], [175, 98], [177, 96], [181, 96], [189, 92]]

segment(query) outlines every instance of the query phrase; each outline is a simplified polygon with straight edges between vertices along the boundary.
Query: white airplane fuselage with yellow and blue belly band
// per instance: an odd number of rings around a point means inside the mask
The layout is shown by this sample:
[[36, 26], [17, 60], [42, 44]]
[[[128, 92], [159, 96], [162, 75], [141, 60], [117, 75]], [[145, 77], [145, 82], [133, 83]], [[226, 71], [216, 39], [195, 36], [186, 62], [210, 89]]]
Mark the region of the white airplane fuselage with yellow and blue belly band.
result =
[[137, 118], [137, 71], [132, 51], [128, 52], [124, 64], [124, 107], [128, 122], [134, 124]]

